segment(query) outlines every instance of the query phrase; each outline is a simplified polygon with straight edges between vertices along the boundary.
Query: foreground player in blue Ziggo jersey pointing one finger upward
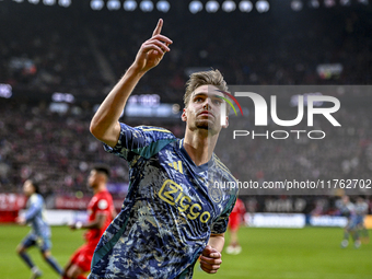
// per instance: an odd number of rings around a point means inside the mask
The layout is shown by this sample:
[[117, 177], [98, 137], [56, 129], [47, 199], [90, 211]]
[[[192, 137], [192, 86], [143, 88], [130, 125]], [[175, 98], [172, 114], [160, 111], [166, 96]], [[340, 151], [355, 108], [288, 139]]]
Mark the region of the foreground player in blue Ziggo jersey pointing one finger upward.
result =
[[221, 91], [228, 90], [222, 74], [212, 70], [190, 75], [182, 114], [184, 139], [163, 128], [118, 121], [141, 77], [170, 51], [173, 42], [160, 34], [162, 25], [160, 20], [91, 123], [105, 150], [128, 161], [130, 186], [121, 212], [95, 249], [89, 279], [191, 278], [200, 255], [208, 274], [216, 274], [222, 263], [224, 232], [236, 200], [235, 189], [213, 186], [235, 181], [213, 153], [222, 128]]

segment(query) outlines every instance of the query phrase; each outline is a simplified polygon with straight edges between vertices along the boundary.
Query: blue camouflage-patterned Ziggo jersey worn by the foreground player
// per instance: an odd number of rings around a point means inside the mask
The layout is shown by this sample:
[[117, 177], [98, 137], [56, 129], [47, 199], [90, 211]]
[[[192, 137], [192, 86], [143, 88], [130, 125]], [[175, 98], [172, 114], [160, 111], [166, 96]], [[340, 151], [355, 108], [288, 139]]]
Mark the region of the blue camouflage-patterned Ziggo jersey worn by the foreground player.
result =
[[216, 187], [235, 181], [213, 154], [197, 166], [168, 130], [121, 124], [114, 149], [129, 163], [120, 213], [102, 236], [90, 279], [191, 278], [210, 234], [224, 233], [236, 193]]

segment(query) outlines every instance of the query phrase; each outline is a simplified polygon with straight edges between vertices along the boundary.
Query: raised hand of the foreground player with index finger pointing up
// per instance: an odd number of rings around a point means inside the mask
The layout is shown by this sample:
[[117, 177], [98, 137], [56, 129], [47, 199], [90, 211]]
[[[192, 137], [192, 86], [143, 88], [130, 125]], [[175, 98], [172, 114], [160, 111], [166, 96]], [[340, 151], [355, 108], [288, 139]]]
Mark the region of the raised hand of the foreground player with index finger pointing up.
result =
[[163, 20], [160, 19], [158, 25], [152, 33], [152, 37], [146, 40], [136, 56], [133, 67], [138, 72], [144, 73], [151, 68], [159, 65], [165, 53], [170, 51], [168, 45], [172, 39], [161, 35]]

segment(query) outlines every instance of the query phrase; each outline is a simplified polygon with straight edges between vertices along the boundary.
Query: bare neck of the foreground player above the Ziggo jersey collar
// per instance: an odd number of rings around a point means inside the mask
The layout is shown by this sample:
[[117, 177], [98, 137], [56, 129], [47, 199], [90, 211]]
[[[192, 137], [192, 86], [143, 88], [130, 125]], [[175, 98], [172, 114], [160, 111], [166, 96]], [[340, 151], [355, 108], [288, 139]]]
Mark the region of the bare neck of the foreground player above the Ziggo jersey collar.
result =
[[202, 165], [212, 158], [218, 135], [202, 137], [196, 132], [185, 135], [184, 148], [196, 165]]

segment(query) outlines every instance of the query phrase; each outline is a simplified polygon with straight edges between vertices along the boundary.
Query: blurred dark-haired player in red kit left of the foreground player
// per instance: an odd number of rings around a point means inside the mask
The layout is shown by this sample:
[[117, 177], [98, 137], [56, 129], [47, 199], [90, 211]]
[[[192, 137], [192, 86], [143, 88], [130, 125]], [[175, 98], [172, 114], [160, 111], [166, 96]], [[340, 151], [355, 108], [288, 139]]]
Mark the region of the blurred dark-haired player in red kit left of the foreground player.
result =
[[94, 166], [89, 175], [88, 185], [94, 196], [88, 205], [89, 219], [86, 223], [75, 222], [71, 230], [88, 229], [82, 245], [70, 258], [65, 268], [63, 279], [85, 279], [85, 272], [91, 270], [91, 261], [95, 246], [102, 234], [116, 216], [112, 195], [106, 189], [109, 171], [106, 166]]

